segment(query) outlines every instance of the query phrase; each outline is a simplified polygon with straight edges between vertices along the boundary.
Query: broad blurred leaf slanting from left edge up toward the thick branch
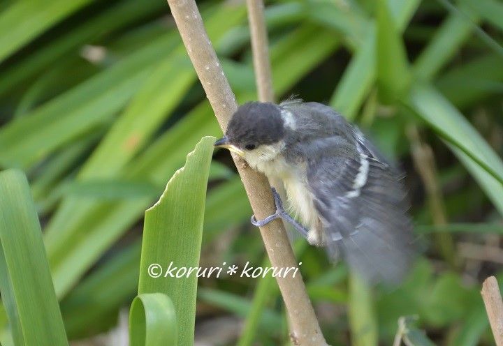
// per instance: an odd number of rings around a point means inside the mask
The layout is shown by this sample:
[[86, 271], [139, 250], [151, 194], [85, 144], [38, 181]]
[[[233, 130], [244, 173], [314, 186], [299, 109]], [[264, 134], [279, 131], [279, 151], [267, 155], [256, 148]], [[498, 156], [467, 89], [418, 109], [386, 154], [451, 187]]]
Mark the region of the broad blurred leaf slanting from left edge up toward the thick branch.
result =
[[[158, 38], [112, 68], [44, 103], [0, 129], [0, 164], [30, 167], [69, 140], [112, 119], [152, 72], [159, 52], [173, 49], [175, 36]], [[27, 136], [27, 133], [31, 134]]]

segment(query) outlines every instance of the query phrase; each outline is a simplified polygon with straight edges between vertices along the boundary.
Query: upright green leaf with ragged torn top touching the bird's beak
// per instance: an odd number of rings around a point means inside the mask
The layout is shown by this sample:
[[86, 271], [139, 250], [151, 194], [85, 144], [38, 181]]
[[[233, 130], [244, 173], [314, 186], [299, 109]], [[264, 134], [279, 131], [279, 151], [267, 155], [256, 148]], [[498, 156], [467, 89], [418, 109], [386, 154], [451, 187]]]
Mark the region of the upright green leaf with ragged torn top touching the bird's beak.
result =
[[[183, 267], [187, 273], [189, 268], [199, 265], [214, 140], [214, 137], [203, 137], [187, 155], [184, 167], [170, 179], [159, 202], [145, 212], [138, 294], [161, 292], [172, 299], [181, 346], [194, 343], [197, 276], [193, 272], [171, 277], [168, 268]], [[153, 270], [159, 270], [161, 276], [153, 277]]]

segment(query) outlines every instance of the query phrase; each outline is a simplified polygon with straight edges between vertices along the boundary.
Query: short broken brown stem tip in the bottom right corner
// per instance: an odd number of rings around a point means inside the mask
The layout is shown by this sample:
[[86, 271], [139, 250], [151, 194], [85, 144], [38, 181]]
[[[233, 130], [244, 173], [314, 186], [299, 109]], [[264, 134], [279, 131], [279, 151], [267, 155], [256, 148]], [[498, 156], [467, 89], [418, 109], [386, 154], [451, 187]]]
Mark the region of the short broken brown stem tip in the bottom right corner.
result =
[[486, 278], [482, 284], [482, 299], [486, 304], [491, 329], [497, 346], [503, 346], [503, 301], [500, 287], [494, 276]]

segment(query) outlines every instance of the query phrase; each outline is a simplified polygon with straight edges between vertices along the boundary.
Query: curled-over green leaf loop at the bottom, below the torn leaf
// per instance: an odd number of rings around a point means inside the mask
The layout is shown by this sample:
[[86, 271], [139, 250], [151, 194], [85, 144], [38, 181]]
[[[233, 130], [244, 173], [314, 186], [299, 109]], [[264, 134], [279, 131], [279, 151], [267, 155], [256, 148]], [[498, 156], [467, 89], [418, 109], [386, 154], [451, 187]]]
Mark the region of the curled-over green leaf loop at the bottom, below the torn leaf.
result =
[[133, 300], [129, 313], [129, 345], [177, 345], [175, 306], [166, 294], [145, 293]]

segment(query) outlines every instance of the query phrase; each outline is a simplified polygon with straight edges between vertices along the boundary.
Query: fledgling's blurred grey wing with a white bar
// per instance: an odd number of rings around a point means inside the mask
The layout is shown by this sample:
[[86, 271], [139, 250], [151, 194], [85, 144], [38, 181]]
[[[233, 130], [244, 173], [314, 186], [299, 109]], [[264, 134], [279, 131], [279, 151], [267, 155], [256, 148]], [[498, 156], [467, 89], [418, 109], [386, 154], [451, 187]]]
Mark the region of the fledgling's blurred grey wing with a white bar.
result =
[[324, 138], [311, 144], [317, 154], [308, 158], [307, 179], [326, 246], [370, 282], [396, 282], [414, 253], [402, 177], [351, 128], [353, 143]]

